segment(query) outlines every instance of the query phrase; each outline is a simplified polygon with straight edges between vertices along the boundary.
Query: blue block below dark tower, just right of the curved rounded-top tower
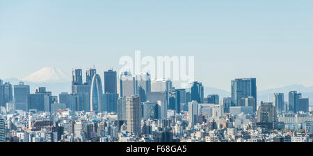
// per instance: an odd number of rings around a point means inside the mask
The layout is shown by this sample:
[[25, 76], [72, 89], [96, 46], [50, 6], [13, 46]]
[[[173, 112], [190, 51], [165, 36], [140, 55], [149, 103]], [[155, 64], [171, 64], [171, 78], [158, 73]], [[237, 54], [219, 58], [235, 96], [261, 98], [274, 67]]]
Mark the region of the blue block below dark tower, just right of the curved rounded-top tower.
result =
[[106, 112], [117, 112], [118, 94], [106, 93], [103, 94], [103, 105], [102, 111]]

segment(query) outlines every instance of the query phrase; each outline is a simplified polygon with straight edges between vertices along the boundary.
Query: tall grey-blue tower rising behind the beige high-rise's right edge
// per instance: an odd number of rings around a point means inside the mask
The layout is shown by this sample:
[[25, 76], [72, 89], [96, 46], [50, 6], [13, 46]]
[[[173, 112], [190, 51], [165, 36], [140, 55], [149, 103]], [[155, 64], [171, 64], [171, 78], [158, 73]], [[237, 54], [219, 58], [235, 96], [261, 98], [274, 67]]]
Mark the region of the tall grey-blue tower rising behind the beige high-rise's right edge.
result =
[[147, 101], [147, 92], [151, 92], [150, 73], [139, 73], [136, 75], [138, 84], [138, 94], [141, 97], [141, 102]]

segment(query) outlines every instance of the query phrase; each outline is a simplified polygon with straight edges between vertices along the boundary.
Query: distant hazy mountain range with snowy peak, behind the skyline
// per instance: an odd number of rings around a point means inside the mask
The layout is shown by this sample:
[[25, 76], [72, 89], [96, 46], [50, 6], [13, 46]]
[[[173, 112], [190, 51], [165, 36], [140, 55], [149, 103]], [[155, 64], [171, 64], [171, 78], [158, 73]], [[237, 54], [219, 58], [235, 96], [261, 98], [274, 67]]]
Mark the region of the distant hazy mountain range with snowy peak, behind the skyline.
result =
[[[31, 93], [35, 92], [35, 87], [47, 87], [47, 91], [51, 91], [53, 95], [61, 94], [61, 92], [71, 92], [71, 78], [63, 73], [60, 69], [54, 67], [44, 67], [39, 71], [29, 74], [26, 78], [19, 80], [17, 78], [10, 78], [3, 80], [10, 82], [13, 85], [19, 84], [23, 81], [26, 85], [31, 86]], [[284, 101], [288, 101], [288, 94], [290, 91], [298, 91], [303, 95], [303, 98], [310, 98], [310, 105], [313, 105], [313, 86], [305, 87], [303, 85], [288, 85], [274, 89], [266, 89], [257, 92], [257, 101], [273, 101], [274, 93], [284, 93]], [[224, 97], [230, 97], [230, 92], [214, 87], [204, 87], [204, 96], [208, 94], [218, 94], [220, 100]]]

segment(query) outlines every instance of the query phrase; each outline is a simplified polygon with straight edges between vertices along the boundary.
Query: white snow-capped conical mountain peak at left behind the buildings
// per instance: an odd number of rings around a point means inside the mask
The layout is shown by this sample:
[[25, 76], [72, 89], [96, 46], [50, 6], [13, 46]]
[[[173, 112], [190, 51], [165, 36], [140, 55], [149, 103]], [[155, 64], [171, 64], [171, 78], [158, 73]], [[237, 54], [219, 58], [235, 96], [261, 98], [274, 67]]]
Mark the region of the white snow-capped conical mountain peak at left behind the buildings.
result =
[[44, 67], [35, 73], [29, 74], [26, 78], [22, 78], [24, 82], [30, 83], [65, 83], [70, 81], [70, 77], [54, 67]]

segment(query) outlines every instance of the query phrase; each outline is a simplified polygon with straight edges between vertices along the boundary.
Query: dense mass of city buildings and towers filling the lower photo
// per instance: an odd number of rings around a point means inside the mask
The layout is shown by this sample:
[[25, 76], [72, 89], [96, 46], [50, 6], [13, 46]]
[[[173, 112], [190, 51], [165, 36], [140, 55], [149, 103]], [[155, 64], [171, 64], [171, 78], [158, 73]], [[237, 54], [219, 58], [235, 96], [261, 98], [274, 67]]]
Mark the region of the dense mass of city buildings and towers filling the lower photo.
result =
[[[96, 69], [72, 70], [72, 92], [58, 96], [0, 80], [3, 142], [299, 142], [313, 141], [310, 99], [272, 93], [257, 101], [255, 78], [231, 81], [231, 94], [204, 96], [195, 81], [175, 88], [170, 79]], [[102, 86], [103, 84], [103, 86]], [[271, 102], [272, 100], [272, 102]]]

